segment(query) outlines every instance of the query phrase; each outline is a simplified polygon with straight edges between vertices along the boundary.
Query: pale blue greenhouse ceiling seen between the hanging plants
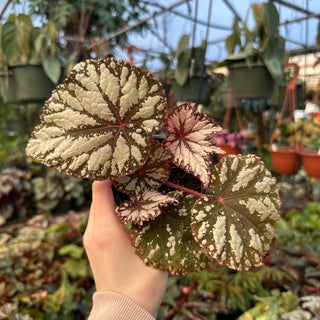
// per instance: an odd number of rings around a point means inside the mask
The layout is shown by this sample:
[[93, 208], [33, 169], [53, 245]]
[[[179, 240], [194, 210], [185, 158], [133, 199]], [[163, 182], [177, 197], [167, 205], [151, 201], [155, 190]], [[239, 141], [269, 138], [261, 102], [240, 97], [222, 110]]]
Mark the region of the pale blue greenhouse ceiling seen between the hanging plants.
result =
[[[317, 53], [316, 36], [320, 20], [320, 0], [272, 0], [280, 16], [280, 33], [286, 39], [286, 51], [291, 55]], [[25, 1], [26, 2], [26, 1]], [[85, 0], [84, 0], [85, 2]], [[176, 49], [183, 34], [190, 34], [194, 45], [206, 39], [208, 49], [206, 60], [210, 63], [223, 60], [227, 53], [225, 39], [232, 32], [235, 15], [253, 22], [252, 3], [261, 0], [141, 0], [147, 3], [149, 12], [143, 20], [153, 26], [153, 32], [142, 36], [129, 36], [129, 44], [140, 48], [133, 52], [137, 65], [148, 59], [147, 67], [159, 68], [159, 54], [169, 54]], [[25, 8], [24, 6], [23, 8]], [[10, 12], [10, 1], [0, 0], [2, 21]], [[24, 10], [24, 9], [21, 10]], [[17, 7], [15, 8], [17, 9]], [[137, 23], [139, 24], [139, 23]], [[136, 25], [136, 24], [135, 24]], [[107, 34], [111, 40], [118, 33], [134, 30], [134, 26], [119, 28], [116, 33]], [[157, 34], [157, 36], [155, 36]], [[190, 43], [191, 45], [191, 43]], [[125, 50], [117, 50], [117, 58], [127, 59]]]

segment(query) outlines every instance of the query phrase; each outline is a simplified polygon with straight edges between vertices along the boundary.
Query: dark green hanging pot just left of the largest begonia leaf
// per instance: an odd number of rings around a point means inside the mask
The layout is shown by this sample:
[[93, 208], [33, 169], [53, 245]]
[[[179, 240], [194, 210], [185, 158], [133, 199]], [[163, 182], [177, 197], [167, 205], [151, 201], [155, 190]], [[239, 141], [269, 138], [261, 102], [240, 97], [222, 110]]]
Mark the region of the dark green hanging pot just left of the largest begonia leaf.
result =
[[41, 64], [15, 65], [11, 69], [20, 103], [45, 101], [56, 87]]

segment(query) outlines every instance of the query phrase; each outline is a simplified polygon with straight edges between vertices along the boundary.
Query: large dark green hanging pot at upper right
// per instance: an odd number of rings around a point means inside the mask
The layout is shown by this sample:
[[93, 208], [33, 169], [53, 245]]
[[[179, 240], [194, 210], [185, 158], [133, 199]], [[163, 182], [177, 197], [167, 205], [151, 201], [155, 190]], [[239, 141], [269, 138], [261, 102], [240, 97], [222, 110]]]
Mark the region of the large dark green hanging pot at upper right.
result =
[[254, 62], [249, 68], [244, 60], [233, 62], [229, 73], [235, 99], [269, 99], [272, 96], [275, 81], [263, 63]]

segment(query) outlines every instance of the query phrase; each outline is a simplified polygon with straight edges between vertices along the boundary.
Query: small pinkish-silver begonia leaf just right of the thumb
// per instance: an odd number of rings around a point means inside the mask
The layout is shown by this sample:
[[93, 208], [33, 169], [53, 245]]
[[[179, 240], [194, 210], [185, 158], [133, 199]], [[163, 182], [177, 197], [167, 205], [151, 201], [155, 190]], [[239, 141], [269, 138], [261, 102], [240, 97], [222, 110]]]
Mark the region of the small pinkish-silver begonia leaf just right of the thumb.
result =
[[162, 208], [169, 204], [178, 204], [178, 200], [155, 190], [145, 190], [134, 201], [125, 201], [116, 211], [124, 223], [142, 225], [144, 221], [155, 219], [162, 213]]

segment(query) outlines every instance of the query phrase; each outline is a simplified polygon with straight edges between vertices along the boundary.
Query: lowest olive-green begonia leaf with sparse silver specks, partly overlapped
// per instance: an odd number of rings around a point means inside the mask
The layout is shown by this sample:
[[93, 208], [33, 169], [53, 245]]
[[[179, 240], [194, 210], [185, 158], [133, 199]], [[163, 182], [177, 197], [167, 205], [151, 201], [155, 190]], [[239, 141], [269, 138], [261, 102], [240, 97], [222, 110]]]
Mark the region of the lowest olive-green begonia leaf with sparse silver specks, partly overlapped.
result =
[[[177, 192], [174, 192], [177, 194]], [[132, 243], [142, 260], [172, 274], [199, 271], [212, 263], [192, 236], [191, 208], [196, 197], [177, 197], [178, 205], [169, 205], [155, 220], [130, 229]]]

